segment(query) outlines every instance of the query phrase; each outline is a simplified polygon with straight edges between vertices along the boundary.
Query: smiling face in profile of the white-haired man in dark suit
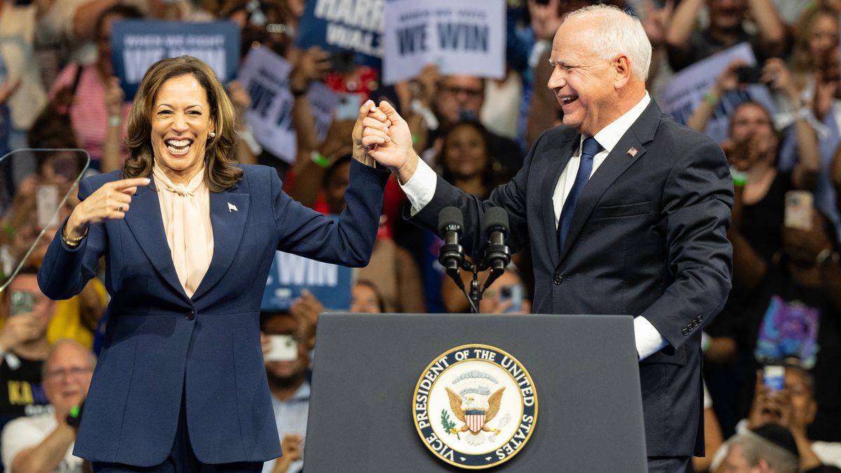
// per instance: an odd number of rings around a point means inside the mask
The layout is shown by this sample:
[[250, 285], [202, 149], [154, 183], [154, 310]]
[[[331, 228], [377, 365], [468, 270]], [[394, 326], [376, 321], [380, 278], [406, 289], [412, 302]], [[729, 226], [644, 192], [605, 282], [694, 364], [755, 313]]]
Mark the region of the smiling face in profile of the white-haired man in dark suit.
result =
[[574, 18], [561, 25], [552, 45], [548, 87], [563, 109], [563, 125], [594, 136], [621, 116], [616, 107], [614, 61], [596, 56], [590, 47], [600, 19]]

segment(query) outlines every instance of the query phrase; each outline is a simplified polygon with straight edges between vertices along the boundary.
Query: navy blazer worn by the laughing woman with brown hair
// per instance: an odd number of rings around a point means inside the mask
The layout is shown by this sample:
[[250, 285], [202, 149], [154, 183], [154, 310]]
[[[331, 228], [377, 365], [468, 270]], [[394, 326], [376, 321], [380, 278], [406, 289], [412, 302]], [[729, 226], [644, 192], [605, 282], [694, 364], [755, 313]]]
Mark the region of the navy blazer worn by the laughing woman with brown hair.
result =
[[[242, 168], [233, 189], [210, 193], [214, 253], [192, 298], [172, 264], [154, 183], [138, 188], [124, 220], [90, 226], [78, 247], [68, 247], [61, 234], [50, 244], [38, 274], [45, 295], [76, 295], [103, 255], [111, 295], [77, 456], [160, 464], [172, 449], [182, 396], [198, 460], [265, 461], [281, 454], [259, 329], [272, 256], [281, 250], [365, 266], [389, 173], [353, 161], [347, 208], [334, 222], [285, 194], [274, 169]], [[119, 172], [86, 178], [79, 198], [119, 178]]]

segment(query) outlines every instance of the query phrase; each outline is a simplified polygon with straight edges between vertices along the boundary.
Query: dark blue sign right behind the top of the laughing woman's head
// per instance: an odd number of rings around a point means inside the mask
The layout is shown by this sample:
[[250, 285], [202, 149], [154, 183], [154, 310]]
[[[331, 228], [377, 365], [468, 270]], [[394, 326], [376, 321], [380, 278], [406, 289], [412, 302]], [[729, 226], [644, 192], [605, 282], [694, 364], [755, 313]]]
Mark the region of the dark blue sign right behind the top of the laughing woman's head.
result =
[[166, 57], [197, 57], [228, 82], [240, 61], [240, 31], [232, 21], [119, 20], [111, 28], [111, 55], [126, 100], [135, 97], [149, 66]]

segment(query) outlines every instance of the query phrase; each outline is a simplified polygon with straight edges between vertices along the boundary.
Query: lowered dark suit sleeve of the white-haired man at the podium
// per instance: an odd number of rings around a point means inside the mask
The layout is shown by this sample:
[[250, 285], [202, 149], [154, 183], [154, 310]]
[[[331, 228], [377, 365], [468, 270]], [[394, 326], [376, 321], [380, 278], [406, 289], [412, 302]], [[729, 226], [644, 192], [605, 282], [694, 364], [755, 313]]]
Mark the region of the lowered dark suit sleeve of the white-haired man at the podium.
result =
[[733, 272], [727, 240], [733, 181], [727, 159], [706, 138], [679, 149], [687, 151], [667, 178], [660, 222], [674, 279], [639, 314], [674, 348], [721, 311]]

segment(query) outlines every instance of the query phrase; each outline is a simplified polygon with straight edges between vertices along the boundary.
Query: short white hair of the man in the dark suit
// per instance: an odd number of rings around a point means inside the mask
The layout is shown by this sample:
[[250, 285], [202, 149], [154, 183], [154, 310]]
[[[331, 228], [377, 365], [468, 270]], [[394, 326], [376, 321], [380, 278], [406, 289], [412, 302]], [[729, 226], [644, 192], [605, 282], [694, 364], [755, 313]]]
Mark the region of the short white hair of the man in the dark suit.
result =
[[651, 41], [639, 19], [614, 5], [597, 3], [567, 14], [566, 20], [576, 18], [600, 19], [601, 24], [593, 33], [592, 48], [596, 56], [612, 61], [622, 54], [631, 62], [631, 72], [645, 81], [651, 64]]

